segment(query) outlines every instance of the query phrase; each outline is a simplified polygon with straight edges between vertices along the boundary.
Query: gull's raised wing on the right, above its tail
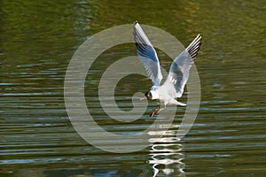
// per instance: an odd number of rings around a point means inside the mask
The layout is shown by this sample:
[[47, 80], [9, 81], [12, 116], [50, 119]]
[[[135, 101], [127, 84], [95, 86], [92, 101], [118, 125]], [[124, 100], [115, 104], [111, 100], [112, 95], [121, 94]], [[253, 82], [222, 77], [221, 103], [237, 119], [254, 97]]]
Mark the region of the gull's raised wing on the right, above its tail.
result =
[[193, 61], [198, 55], [201, 45], [201, 35], [192, 41], [192, 43], [175, 58], [168, 73], [168, 78], [162, 85], [163, 89], [168, 91], [172, 97], [181, 97], [184, 92], [184, 85], [189, 79], [190, 69]]

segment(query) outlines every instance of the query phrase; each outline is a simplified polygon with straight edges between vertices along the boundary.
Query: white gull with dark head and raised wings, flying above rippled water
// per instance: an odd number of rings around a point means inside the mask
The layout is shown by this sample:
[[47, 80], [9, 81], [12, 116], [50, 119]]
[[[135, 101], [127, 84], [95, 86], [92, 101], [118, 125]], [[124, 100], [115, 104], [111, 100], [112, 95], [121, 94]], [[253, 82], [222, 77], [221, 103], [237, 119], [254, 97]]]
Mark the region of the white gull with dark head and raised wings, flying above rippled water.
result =
[[153, 81], [153, 87], [145, 93], [141, 100], [157, 99], [164, 103], [164, 107], [158, 109], [157, 106], [151, 116], [165, 110], [168, 104], [185, 106], [186, 104], [178, 102], [176, 98], [181, 97], [184, 92], [184, 85], [189, 79], [190, 69], [200, 50], [201, 35], [197, 35], [191, 44], [174, 59], [170, 66], [167, 80], [162, 85], [160, 85], [162, 74], [157, 53], [153, 48], [153, 44], [137, 22], [134, 25], [133, 35], [136, 42], [137, 55], [145, 65], [146, 72]]

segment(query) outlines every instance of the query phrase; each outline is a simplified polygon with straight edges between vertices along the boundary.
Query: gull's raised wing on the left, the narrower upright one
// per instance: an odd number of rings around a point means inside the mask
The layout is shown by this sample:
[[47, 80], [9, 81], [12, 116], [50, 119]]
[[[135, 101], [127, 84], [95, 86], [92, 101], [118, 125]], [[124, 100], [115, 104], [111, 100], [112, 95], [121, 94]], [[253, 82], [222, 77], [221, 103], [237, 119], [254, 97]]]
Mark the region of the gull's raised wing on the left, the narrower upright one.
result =
[[160, 72], [160, 62], [152, 43], [149, 41], [145, 32], [136, 22], [133, 30], [134, 40], [137, 47], [137, 55], [145, 65], [145, 69], [153, 81], [153, 86], [160, 86], [162, 75]]

